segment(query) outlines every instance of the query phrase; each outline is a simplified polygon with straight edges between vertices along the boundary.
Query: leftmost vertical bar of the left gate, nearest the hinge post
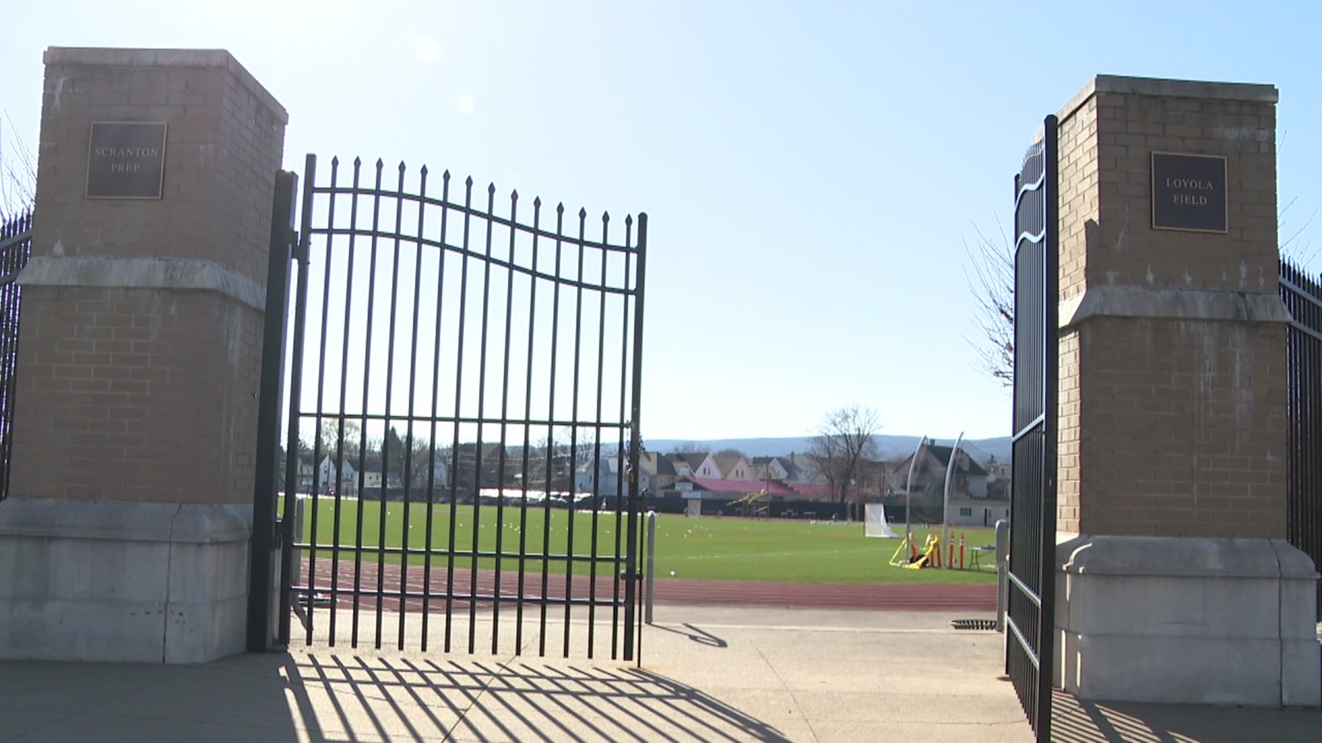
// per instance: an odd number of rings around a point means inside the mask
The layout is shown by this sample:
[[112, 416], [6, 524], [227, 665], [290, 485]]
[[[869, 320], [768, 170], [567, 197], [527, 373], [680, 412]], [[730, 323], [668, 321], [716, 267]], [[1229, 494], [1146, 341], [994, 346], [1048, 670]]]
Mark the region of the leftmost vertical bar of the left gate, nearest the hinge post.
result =
[[[288, 644], [290, 641], [290, 576], [293, 571], [292, 565], [292, 533], [293, 533], [293, 501], [296, 498], [290, 497], [290, 484], [293, 483], [293, 490], [297, 492], [297, 451], [299, 451], [299, 411], [303, 402], [303, 328], [305, 327], [308, 317], [308, 254], [307, 247], [311, 245], [312, 238], [312, 184], [316, 177], [317, 160], [315, 156], [308, 155], [304, 161], [304, 171], [307, 175], [307, 182], [303, 185], [303, 204], [304, 212], [303, 218], [305, 219], [303, 227], [303, 235], [299, 238], [299, 284], [297, 293], [293, 300], [293, 348], [292, 357], [290, 358], [290, 430], [288, 439], [286, 440], [286, 457], [284, 457], [284, 518], [282, 524], [282, 550], [280, 550], [280, 596], [276, 606], [279, 611], [279, 628], [280, 633], [276, 637], [278, 644]], [[290, 453], [293, 456], [290, 456]]]

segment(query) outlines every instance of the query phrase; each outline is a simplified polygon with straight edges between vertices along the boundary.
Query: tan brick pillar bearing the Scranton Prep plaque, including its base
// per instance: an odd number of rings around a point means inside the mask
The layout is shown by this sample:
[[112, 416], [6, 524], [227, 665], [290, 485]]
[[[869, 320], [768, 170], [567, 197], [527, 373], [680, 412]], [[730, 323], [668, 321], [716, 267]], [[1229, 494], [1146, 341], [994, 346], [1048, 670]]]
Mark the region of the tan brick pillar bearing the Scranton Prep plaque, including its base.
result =
[[[223, 50], [52, 48], [45, 63], [0, 657], [237, 652], [287, 115]], [[164, 123], [163, 164], [94, 147], [110, 122]], [[163, 168], [159, 197], [98, 197], [136, 168]]]

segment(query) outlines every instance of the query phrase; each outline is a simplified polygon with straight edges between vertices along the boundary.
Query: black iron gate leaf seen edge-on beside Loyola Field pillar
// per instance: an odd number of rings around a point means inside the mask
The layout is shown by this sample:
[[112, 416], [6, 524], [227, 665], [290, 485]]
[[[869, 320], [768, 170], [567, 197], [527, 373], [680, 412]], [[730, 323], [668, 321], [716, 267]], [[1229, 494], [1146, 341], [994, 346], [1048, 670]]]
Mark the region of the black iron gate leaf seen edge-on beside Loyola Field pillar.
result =
[[1006, 673], [1051, 739], [1056, 550], [1056, 118], [1014, 180], [1014, 460]]

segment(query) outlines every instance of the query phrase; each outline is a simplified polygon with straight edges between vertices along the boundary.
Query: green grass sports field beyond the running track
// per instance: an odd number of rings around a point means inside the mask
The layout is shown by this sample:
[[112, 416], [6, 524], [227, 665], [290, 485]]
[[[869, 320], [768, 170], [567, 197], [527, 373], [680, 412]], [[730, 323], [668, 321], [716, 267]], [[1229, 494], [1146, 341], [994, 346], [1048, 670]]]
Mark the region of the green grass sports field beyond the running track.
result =
[[[334, 534], [334, 501], [321, 498], [316, 514], [319, 545], [357, 543], [358, 508], [362, 514], [362, 545], [375, 547], [381, 537], [381, 502], [345, 500], [341, 505], [340, 537]], [[405, 524], [405, 504], [386, 504], [386, 539], [390, 547], [403, 546], [407, 538], [410, 549], [423, 549], [427, 543], [427, 508], [424, 504], [410, 504], [408, 522]], [[473, 506], [460, 505], [455, 509], [455, 549], [467, 551], [473, 543]], [[541, 553], [543, 539], [545, 512], [529, 509], [526, 524], [521, 524], [518, 508], [506, 506], [504, 528], [498, 528], [494, 505], [483, 505], [481, 522], [477, 525], [479, 551], [494, 551], [497, 535], [502, 539], [501, 550], [514, 553], [524, 539], [524, 549]], [[566, 554], [570, 551], [570, 518], [564, 509], [550, 512], [550, 551]], [[587, 557], [592, 554], [592, 514], [578, 512], [572, 514], [572, 554]], [[640, 520], [641, 521], [641, 520]], [[407, 528], [406, 528], [407, 526]], [[903, 533], [904, 525], [892, 525]], [[448, 505], [435, 505], [431, 517], [431, 543], [434, 549], [444, 549], [449, 543], [451, 512]], [[602, 512], [598, 517], [598, 555], [616, 554], [619, 534], [613, 513]], [[928, 528], [915, 529], [921, 546]], [[933, 529], [940, 534], [940, 526]], [[303, 541], [312, 533], [312, 510], [304, 514]], [[965, 535], [965, 549], [990, 545], [995, 535], [992, 529], [951, 528], [951, 534], [958, 545], [958, 534]], [[407, 537], [406, 537], [407, 535]], [[656, 574], [657, 579], [676, 578], [701, 580], [779, 580], [791, 583], [908, 583], [908, 584], [965, 584], [993, 583], [994, 563], [990, 555], [982, 558], [981, 570], [910, 570], [890, 565], [891, 555], [902, 539], [882, 539], [863, 537], [861, 524], [806, 522], [791, 520], [750, 520], [750, 518], [686, 518], [678, 514], [661, 514], [657, 521]], [[957, 547], [956, 547], [957, 550]], [[623, 547], [621, 547], [623, 551]], [[365, 559], [374, 555], [365, 554]], [[387, 562], [399, 562], [401, 555], [386, 555]], [[956, 551], [956, 561], [958, 553]], [[410, 565], [423, 565], [422, 555], [410, 555]], [[968, 562], [968, 561], [966, 561]], [[434, 567], [443, 567], [443, 557], [432, 557]], [[460, 557], [456, 566], [467, 567], [471, 559]], [[508, 563], [506, 563], [508, 565]], [[561, 563], [563, 565], [563, 563]], [[483, 558], [479, 567], [493, 567], [494, 561]], [[555, 561], [551, 570], [562, 570]]]

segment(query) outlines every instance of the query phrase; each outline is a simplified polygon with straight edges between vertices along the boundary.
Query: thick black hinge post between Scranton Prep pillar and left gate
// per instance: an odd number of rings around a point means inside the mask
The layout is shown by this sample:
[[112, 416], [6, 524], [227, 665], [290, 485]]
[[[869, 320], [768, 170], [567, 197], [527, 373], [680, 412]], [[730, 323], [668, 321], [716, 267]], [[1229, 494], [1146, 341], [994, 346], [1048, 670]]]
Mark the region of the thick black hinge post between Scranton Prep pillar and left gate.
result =
[[[247, 637], [246, 646], [250, 652], [266, 652], [271, 649], [272, 627], [271, 623], [271, 596], [272, 588], [282, 591], [283, 587], [272, 586], [275, 579], [275, 501], [276, 501], [276, 453], [280, 446], [280, 414], [283, 412], [284, 393], [284, 342], [290, 313], [290, 262], [291, 231], [293, 229], [293, 198], [297, 190], [297, 176], [279, 172], [275, 177], [275, 198], [271, 208], [271, 242], [266, 279], [266, 317], [262, 328], [262, 386], [258, 393], [260, 406], [258, 407], [256, 426], [256, 461], [253, 493], [253, 538], [250, 542], [250, 590], [247, 604]], [[5, 225], [8, 227], [8, 225]], [[3, 235], [4, 233], [0, 233]], [[5, 235], [7, 237], [7, 235]], [[17, 260], [15, 255], [22, 250], [21, 245], [13, 245], [5, 250], [4, 272], [12, 274]], [[13, 316], [16, 305], [13, 303], [15, 284], [4, 287], [4, 438], [8, 446], [11, 427], [8, 422], [9, 411], [13, 407], [13, 398], [9, 395], [9, 381], [13, 378], [9, 369], [9, 356], [15, 340]], [[288, 455], [286, 455], [288, 456]], [[8, 461], [4, 464], [8, 472]], [[276, 594], [276, 611], [279, 611], [279, 594]], [[288, 612], [286, 612], [288, 613]]]

